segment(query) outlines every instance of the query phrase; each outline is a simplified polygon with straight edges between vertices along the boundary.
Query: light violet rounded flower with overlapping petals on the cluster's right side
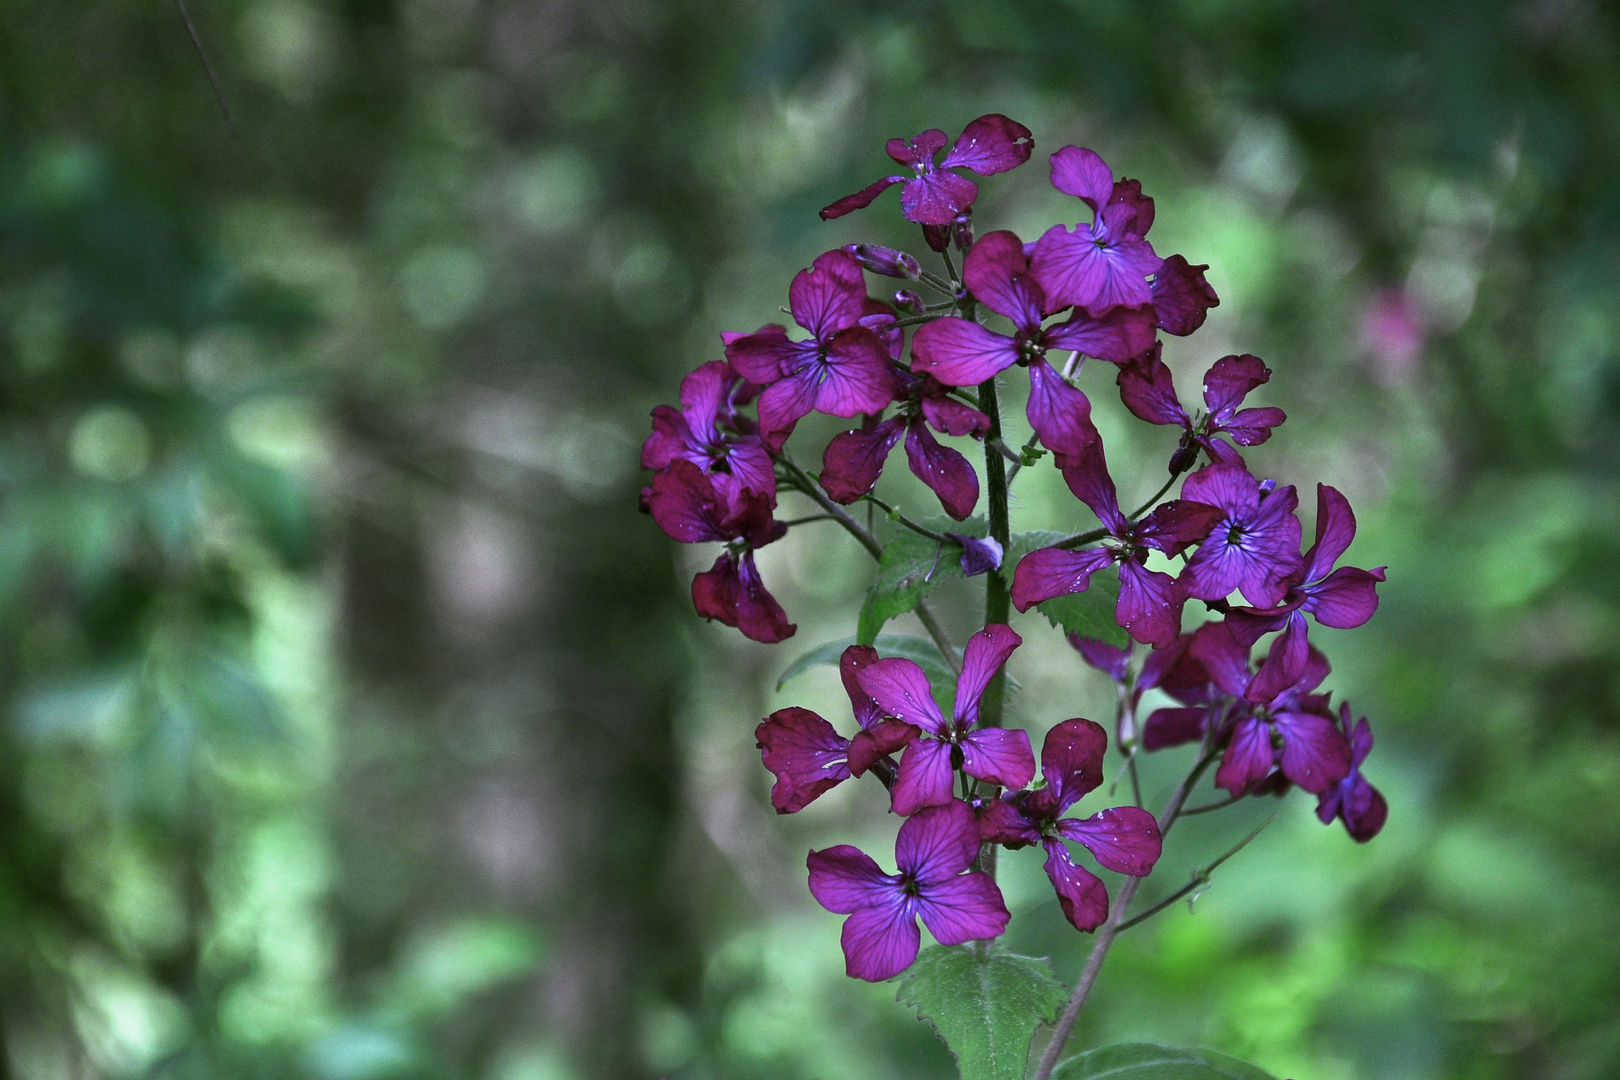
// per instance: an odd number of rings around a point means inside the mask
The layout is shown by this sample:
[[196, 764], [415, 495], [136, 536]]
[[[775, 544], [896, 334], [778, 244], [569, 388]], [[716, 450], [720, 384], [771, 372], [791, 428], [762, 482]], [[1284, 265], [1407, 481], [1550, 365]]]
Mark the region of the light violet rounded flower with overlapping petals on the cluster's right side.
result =
[[1301, 567], [1293, 484], [1265, 494], [1243, 465], [1215, 463], [1189, 476], [1181, 497], [1225, 512], [1181, 572], [1187, 596], [1218, 601], [1239, 589], [1259, 607], [1280, 604]]

